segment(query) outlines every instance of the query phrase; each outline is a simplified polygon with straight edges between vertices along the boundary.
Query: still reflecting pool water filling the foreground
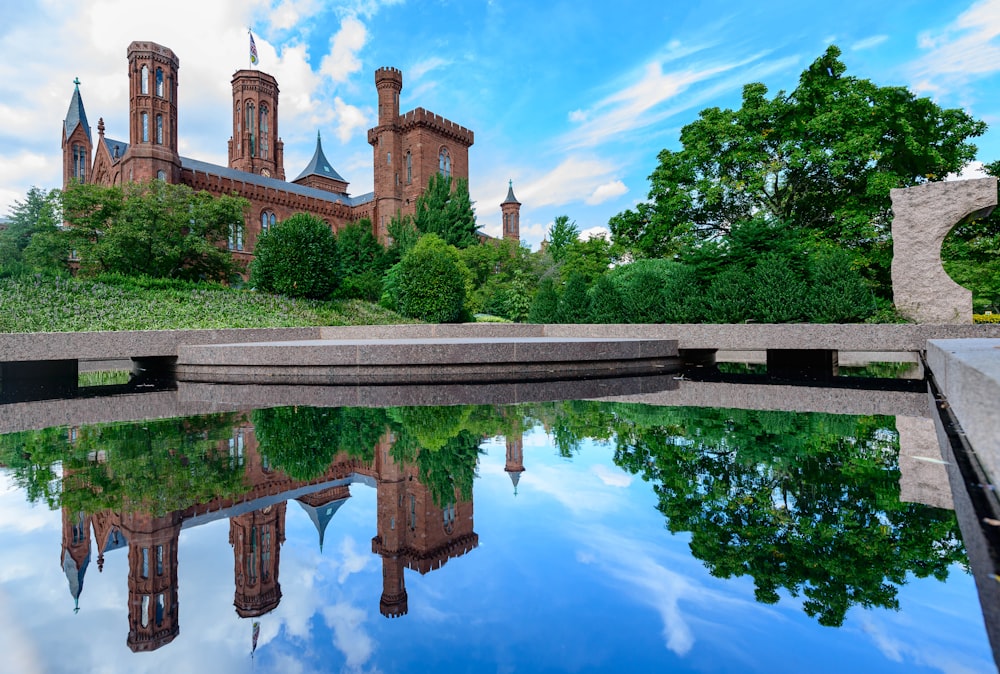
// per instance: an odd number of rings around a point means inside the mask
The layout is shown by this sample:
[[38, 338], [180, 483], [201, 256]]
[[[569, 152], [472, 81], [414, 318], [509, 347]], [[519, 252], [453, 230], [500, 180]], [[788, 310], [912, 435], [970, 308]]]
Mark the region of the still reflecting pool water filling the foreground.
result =
[[0, 669], [995, 671], [899, 448], [891, 416], [594, 401], [2, 435]]

